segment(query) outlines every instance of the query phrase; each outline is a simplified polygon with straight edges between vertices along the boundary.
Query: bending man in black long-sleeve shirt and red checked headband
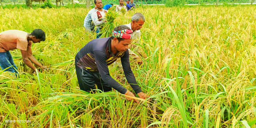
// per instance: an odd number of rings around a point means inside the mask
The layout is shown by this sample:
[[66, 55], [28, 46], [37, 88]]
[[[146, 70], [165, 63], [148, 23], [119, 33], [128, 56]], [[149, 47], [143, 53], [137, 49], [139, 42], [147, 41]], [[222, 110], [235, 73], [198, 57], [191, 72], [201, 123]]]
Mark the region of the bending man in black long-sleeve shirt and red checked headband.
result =
[[[114, 28], [112, 37], [94, 39], [87, 43], [75, 57], [76, 75], [79, 87], [86, 92], [96, 92], [95, 84], [103, 92], [112, 91], [135, 97], [132, 92], [120, 85], [110, 74], [108, 65], [121, 58], [124, 75], [132, 89], [142, 99], [146, 94], [142, 92], [136, 82], [130, 67], [128, 45], [132, 43], [132, 30], [125, 25]], [[132, 98], [126, 97], [127, 100]], [[138, 103], [138, 100], [135, 100]]]

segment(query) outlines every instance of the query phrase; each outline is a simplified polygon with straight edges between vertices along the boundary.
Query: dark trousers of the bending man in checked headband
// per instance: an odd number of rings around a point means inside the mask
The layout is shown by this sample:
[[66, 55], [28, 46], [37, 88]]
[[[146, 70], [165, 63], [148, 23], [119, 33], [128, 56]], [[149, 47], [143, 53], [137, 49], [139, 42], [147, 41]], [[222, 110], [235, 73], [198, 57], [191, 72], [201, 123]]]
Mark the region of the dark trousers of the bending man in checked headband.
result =
[[[101, 79], [99, 72], [91, 72], [87, 69], [79, 68], [76, 63], [75, 67], [78, 84], [81, 90], [91, 92], [91, 90], [96, 89], [96, 84], [97, 88], [102, 92], [112, 91], [112, 88]], [[92, 91], [91, 93], [95, 92], [96, 90]]]

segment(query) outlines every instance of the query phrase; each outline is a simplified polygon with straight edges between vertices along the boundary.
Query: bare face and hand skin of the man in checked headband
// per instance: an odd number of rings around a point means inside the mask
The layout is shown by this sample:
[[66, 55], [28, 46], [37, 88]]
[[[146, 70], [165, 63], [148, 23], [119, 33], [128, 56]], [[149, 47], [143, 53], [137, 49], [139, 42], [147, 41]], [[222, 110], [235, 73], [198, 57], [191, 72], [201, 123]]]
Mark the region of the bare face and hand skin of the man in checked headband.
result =
[[[129, 44], [131, 44], [131, 43], [132, 43], [132, 39], [124, 39], [124, 40], [118, 42], [117, 38], [115, 37], [114, 39], [111, 40], [111, 51], [112, 51], [112, 53], [113, 53], [114, 55], [117, 54], [117, 51], [118, 51], [118, 52], [125, 52], [125, 51], [129, 48]], [[128, 96], [135, 97], [135, 96], [133, 95], [133, 93], [131, 93], [131, 92], [128, 91], [128, 90], [127, 90], [127, 93], [128, 93], [128, 94], [127, 94]], [[145, 93], [143, 93], [143, 92], [140, 92], [140, 93], [138, 93], [137, 95], [138, 95], [140, 98], [142, 98], [142, 99], [146, 99], [146, 98], [148, 97], [148, 96], [147, 96]], [[132, 99], [132, 98], [130, 98], [130, 97], [126, 97], [126, 99], [129, 100], [129, 101], [130, 101], [130, 100], [133, 100], [133, 101], [139, 103], [138, 100]]]

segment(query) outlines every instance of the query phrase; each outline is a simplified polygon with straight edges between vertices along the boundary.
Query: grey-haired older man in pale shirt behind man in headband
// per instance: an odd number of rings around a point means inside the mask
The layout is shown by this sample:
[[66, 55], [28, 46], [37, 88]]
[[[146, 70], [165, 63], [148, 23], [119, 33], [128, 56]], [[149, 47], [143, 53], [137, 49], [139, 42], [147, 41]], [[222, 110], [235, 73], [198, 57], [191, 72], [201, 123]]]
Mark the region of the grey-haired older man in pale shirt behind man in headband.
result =
[[[130, 29], [132, 29], [133, 34], [132, 34], [132, 39], [135, 41], [139, 41], [140, 40], [140, 28], [142, 28], [142, 25], [144, 25], [146, 19], [145, 17], [142, 15], [142, 13], [135, 13], [132, 16], [132, 22], [129, 24], [125, 24], [127, 27], [129, 27]], [[130, 49], [128, 49], [129, 51], [129, 55], [137, 61], [138, 64], [142, 64], [142, 60], [140, 60], [140, 57], [138, 55], [136, 55], [133, 51], [131, 51]], [[138, 49], [137, 50], [138, 53], [143, 55], [143, 52]], [[118, 64], [119, 67], [121, 67], [121, 63], [120, 63], [120, 59], [118, 58], [117, 61], [114, 64]]]

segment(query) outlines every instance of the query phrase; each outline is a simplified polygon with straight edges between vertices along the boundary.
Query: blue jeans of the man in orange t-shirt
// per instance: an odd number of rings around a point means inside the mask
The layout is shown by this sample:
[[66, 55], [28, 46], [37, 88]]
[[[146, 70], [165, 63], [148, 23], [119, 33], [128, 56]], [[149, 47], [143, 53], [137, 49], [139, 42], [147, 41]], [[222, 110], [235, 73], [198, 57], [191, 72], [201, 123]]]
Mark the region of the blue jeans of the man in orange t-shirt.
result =
[[[8, 61], [10, 62], [8, 62]], [[0, 66], [1, 66], [1, 69], [4, 70], [8, 67], [8, 69], [6, 69], [5, 71], [10, 71], [12, 73], [17, 73], [18, 74], [18, 71], [16, 71], [14, 68], [18, 69], [16, 67], [16, 65], [14, 64], [14, 61], [12, 59], [12, 55], [9, 51], [7, 52], [0, 52]], [[12, 66], [12, 67], [11, 67]]]

